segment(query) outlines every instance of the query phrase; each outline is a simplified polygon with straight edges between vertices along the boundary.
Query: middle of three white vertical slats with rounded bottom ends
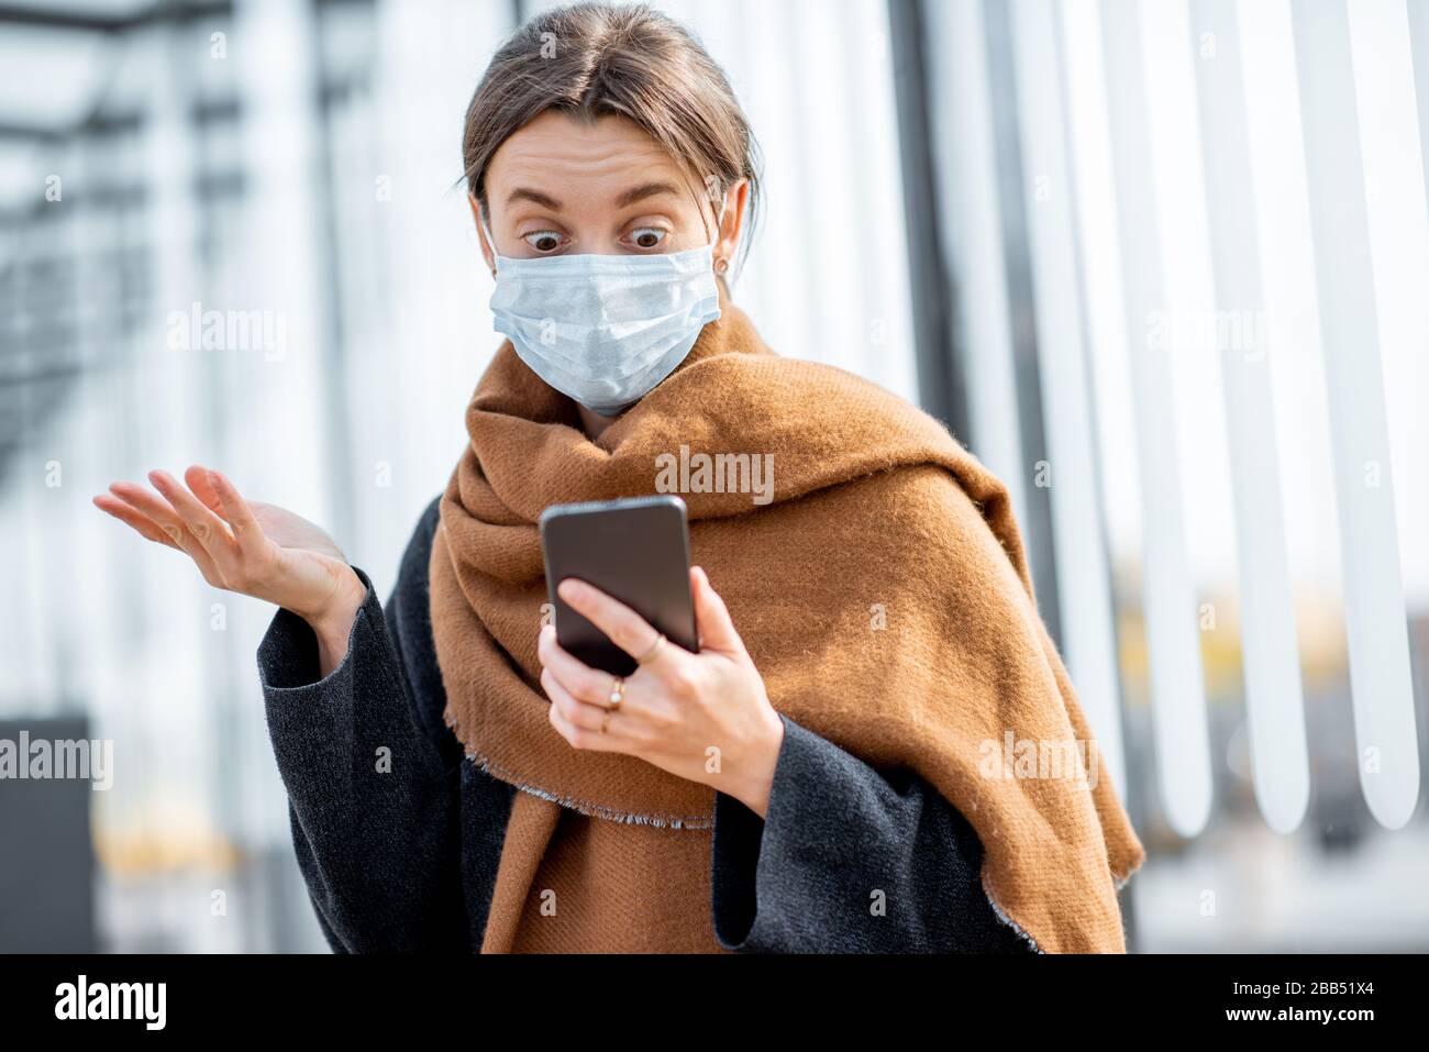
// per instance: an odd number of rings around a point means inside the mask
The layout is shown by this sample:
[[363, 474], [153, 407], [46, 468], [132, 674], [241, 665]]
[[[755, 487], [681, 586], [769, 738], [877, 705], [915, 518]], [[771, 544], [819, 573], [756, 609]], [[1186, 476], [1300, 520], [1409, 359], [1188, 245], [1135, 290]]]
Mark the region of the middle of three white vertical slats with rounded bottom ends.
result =
[[[1285, 555], [1269, 334], [1256, 250], [1240, 34], [1232, 0], [1192, 0], [1193, 46], [1216, 306], [1249, 326], [1245, 346], [1218, 346], [1230, 433], [1240, 637], [1256, 800], [1290, 832], [1309, 806], [1309, 760], [1295, 606]], [[1272, 330], [1273, 332], [1273, 330]]]

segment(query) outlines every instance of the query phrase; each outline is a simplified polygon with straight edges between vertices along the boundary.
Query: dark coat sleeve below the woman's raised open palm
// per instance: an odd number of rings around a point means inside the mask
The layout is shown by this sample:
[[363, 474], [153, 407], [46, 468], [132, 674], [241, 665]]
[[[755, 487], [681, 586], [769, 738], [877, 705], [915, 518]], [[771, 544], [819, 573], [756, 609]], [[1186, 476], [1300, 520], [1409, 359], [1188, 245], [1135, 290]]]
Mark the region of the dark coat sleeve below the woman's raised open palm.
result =
[[430, 630], [429, 525], [424, 516], [386, 609], [354, 567], [367, 596], [327, 676], [319, 676], [312, 627], [289, 610], [273, 616], [259, 645], [297, 863], [337, 953], [470, 952], [460, 746], [417, 703], [439, 673], [412, 658]]

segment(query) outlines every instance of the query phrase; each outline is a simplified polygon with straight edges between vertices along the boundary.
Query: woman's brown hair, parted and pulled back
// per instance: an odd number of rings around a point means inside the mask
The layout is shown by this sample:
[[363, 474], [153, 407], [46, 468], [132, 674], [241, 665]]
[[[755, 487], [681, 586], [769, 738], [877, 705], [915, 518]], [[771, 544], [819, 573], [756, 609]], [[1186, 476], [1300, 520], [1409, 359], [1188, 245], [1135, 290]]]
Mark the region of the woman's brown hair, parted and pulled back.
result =
[[549, 109], [582, 123], [606, 114], [633, 120], [699, 174], [712, 209], [747, 179], [740, 257], [747, 254], [760, 200], [759, 146], [725, 71], [677, 21], [643, 3], [587, 0], [540, 11], [502, 44], [462, 133], [467, 187], [487, 222], [487, 164]]

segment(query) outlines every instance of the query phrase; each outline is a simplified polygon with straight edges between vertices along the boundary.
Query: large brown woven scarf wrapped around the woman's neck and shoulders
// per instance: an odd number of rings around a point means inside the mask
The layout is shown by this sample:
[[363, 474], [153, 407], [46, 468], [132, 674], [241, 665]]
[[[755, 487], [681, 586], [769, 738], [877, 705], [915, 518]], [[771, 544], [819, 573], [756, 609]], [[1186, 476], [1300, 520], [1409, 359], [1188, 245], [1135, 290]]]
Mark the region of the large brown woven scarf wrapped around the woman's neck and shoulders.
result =
[[[977, 830], [989, 899], [1039, 949], [1125, 952], [1116, 889], [1145, 852], [1036, 612], [1006, 489], [933, 417], [775, 354], [723, 289], [720, 307], [679, 369], [594, 440], [510, 342], [467, 406], [430, 565], [446, 722], [484, 770], [526, 790], [483, 949], [713, 948], [713, 790], [572, 749], [547, 722], [536, 658], [542, 510], [659, 492], [680, 462], [692, 559], [773, 706], [930, 782]], [[772, 499], [749, 475], [700, 470], [699, 455], [722, 453], [772, 465]], [[700, 833], [696, 848], [672, 839]], [[584, 923], [532, 935], [562, 880], [584, 892]]]

